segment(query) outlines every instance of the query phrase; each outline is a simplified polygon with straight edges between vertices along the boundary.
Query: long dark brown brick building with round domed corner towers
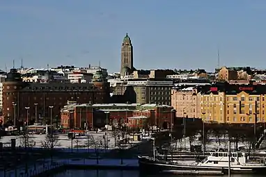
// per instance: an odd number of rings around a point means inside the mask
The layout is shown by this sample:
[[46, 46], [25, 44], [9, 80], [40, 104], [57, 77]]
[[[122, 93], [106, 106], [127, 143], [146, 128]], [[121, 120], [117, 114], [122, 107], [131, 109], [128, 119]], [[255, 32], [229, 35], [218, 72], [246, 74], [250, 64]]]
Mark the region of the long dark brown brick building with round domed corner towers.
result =
[[16, 69], [10, 69], [3, 82], [3, 121], [15, 120], [16, 125], [27, 118], [29, 124], [49, 123], [50, 117], [57, 121], [68, 101], [107, 103], [109, 83], [100, 73], [93, 76], [93, 83], [26, 83]]

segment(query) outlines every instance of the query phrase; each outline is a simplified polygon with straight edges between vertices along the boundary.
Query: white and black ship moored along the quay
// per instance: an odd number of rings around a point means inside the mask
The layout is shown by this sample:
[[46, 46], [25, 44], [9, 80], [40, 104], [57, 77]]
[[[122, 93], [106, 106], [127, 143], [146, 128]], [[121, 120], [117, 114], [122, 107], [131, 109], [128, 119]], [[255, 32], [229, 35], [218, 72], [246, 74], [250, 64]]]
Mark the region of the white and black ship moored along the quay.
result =
[[[266, 172], [265, 160], [250, 160], [247, 153], [242, 152], [210, 152], [201, 162], [169, 162], [150, 158], [148, 156], [139, 156], [139, 168], [141, 172], [155, 173], [163, 171], [221, 171], [223, 174], [263, 174]], [[230, 157], [228, 157], [230, 154]], [[230, 165], [229, 165], [230, 164]]]

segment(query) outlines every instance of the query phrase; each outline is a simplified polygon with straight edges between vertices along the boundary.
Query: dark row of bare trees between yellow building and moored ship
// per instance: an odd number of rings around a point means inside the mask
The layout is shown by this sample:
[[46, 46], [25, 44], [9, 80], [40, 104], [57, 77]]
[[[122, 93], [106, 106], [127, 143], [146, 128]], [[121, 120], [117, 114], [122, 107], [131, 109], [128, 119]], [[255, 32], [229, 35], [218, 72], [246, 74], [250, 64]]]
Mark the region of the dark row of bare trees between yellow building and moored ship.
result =
[[[186, 130], [184, 126], [173, 128], [173, 140], [176, 142], [180, 141], [182, 137], [189, 137], [189, 144], [195, 141], [195, 136], [200, 134], [200, 140], [203, 144], [203, 149], [206, 149], [206, 144], [210, 143], [210, 137], [215, 138], [217, 146], [221, 147], [221, 144], [224, 140], [234, 144], [235, 151], [239, 148], [239, 143], [245, 145], [245, 149], [255, 149], [255, 144], [258, 140], [258, 137], [263, 134], [263, 128], [261, 126], [252, 127], [252, 126], [232, 126], [230, 124], [205, 124], [203, 131], [203, 124], [198, 126], [198, 124], [187, 125]], [[203, 138], [204, 137], [204, 138]], [[223, 142], [226, 144], [226, 142]], [[226, 149], [227, 147], [222, 147]]]

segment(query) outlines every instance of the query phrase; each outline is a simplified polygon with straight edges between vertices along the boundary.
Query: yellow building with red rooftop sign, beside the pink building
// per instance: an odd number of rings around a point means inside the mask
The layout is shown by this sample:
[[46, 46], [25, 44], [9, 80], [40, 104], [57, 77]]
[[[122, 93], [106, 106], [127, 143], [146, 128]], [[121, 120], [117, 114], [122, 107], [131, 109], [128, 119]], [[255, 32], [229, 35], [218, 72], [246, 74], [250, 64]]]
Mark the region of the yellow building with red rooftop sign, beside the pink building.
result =
[[265, 85], [233, 85], [224, 91], [205, 92], [201, 94], [203, 120], [226, 124], [264, 123], [265, 94]]

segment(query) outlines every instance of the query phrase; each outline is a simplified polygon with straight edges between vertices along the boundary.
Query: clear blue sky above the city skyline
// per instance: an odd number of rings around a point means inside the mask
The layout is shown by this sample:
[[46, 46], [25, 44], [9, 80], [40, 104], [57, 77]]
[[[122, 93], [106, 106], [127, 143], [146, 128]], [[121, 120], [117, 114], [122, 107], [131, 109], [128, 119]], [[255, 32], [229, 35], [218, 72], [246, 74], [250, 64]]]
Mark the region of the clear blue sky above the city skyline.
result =
[[1, 68], [119, 71], [129, 33], [137, 69], [266, 68], [265, 0], [1, 0]]

